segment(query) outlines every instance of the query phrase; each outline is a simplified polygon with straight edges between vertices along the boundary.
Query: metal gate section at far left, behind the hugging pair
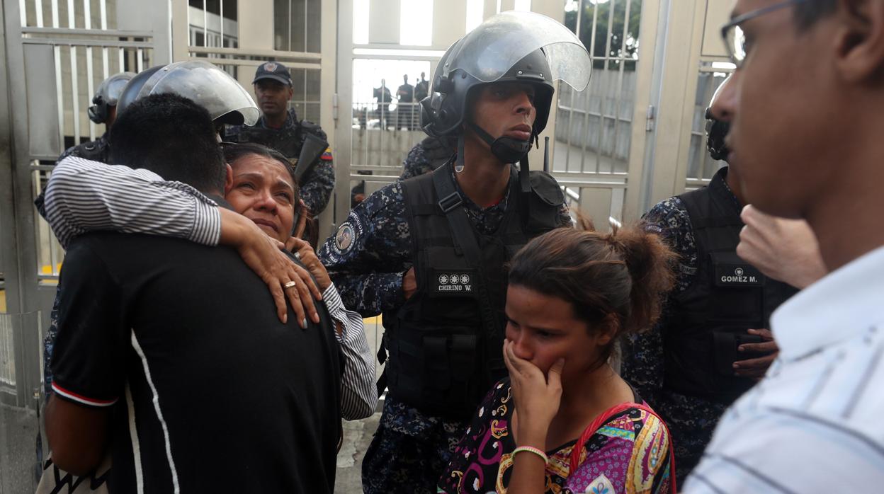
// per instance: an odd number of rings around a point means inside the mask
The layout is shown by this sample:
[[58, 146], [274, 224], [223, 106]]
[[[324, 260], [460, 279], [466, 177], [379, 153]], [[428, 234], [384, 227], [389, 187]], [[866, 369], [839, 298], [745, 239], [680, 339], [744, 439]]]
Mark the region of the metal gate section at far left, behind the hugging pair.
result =
[[[168, 62], [169, 11], [133, 0], [4, 0], [7, 118], [0, 166], [0, 250], [6, 314], [0, 315], [0, 490], [33, 490], [36, 410], [42, 402], [42, 333], [61, 249], [34, 197], [66, 147], [103, 129], [88, 120], [107, 76]], [[6, 141], [6, 140], [9, 141]], [[7, 161], [8, 160], [8, 161]], [[31, 452], [31, 454], [25, 454]]]

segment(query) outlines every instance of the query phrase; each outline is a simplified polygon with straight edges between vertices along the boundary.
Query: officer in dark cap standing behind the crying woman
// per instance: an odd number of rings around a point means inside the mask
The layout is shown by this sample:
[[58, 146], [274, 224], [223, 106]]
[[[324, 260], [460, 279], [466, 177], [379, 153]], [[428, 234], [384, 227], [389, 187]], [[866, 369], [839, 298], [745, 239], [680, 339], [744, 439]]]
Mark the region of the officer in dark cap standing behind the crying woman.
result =
[[[262, 116], [255, 125], [231, 125], [225, 129], [224, 140], [255, 142], [274, 148], [295, 163], [302, 171], [301, 198], [313, 215], [323, 212], [334, 190], [334, 163], [328, 136], [322, 127], [309, 120], [299, 120], [294, 109], [288, 108], [292, 99], [292, 74], [286, 65], [265, 62], [255, 72], [255, 96]], [[297, 163], [305, 141], [313, 136], [325, 142], [325, 147], [309, 156], [310, 163]]]

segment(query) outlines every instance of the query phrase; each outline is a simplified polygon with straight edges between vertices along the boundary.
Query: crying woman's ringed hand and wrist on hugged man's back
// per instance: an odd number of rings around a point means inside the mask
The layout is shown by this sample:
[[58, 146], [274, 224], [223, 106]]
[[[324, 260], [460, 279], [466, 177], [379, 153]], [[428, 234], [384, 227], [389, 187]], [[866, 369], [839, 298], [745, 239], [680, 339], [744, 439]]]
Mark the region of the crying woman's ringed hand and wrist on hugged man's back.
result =
[[[248, 218], [229, 209], [221, 208], [220, 211], [220, 243], [235, 247], [248, 267], [267, 284], [276, 304], [279, 320], [283, 323], [288, 321], [287, 298], [302, 328], [307, 327], [307, 314], [314, 323], [319, 323], [319, 314], [313, 300], [322, 300], [322, 294], [308, 271], [295, 264], [283, 252], [286, 246], [277, 239], [271, 239]], [[286, 285], [290, 286], [286, 288]]]

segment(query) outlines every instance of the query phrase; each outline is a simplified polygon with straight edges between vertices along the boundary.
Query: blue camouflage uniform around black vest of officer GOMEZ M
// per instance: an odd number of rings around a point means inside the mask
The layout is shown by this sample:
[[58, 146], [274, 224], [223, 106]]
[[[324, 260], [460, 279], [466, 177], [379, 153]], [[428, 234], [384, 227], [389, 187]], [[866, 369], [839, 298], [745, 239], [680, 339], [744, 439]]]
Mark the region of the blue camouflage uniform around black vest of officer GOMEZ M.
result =
[[[724, 184], [727, 187], [727, 183]], [[730, 189], [728, 188], [728, 192]], [[733, 200], [739, 205], [736, 196]], [[740, 206], [742, 207], [742, 206]], [[647, 214], [644, 228], [654, 232], [679, 255], [674, 293], [682, 293], [697, 276], [697, 242], [690, 216], [678, 197], [659, 202]], [[678, 483], [697, 466], [715, 426], [727, 405], [687, 396], [663, 388], [663, 338], [667, 332], [667, 310], [651, 331], [627, 337], [623, 346], [621, 376], [666, 420], [674, 437]]]

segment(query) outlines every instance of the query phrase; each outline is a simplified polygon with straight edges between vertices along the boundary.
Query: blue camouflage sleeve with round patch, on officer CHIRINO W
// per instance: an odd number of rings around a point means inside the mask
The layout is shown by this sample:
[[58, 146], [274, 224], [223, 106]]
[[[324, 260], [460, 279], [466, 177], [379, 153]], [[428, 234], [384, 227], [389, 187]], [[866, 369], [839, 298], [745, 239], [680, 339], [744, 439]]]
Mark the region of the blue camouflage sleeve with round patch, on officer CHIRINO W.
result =
[[348, 308], [370, 317], [399, 307], [402, 275], [412, 265], [401, 184], [357, 204], [318, 255]]

